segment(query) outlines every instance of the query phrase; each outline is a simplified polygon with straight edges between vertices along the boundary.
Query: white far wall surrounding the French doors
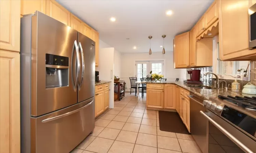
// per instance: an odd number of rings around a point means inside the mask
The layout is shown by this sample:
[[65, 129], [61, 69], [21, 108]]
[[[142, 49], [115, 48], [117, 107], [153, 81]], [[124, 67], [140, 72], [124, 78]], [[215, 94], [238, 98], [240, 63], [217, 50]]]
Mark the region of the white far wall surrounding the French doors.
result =
[[135, 61], [164, 61], [164, 78], [167, 81], [175, 81], [176, 78], [180, 78], [179, 81], [186, 80], [186, 69], [174, 69], [173, 68], [173, 52], [152, 52], [148, 53], [122, 53], [122, 65], [121, 65], [121, 79], [125, 80], [127, 88], [130, 88], [129, 77], [135, 77], [136, 66]]

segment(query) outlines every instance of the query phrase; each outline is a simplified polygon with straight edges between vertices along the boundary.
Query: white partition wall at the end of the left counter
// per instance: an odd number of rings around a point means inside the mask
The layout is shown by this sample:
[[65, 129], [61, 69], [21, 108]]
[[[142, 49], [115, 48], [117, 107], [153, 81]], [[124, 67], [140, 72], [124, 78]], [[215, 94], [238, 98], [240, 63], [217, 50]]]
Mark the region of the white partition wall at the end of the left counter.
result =
[[96, 71], [99, 71], [101, 81], [111, 81], [109, 108], [114, 108], [114, 48], [99, 49], [99, 66], [96, 67]]

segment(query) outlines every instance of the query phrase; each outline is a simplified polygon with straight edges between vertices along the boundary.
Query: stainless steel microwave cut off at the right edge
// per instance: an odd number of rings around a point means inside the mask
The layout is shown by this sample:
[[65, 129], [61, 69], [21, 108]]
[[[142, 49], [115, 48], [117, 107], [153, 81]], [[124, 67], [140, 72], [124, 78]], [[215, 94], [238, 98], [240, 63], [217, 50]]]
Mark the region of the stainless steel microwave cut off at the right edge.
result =
[[248, 10], [249, 14], [249, 48], [256, 49], [256, 4]]

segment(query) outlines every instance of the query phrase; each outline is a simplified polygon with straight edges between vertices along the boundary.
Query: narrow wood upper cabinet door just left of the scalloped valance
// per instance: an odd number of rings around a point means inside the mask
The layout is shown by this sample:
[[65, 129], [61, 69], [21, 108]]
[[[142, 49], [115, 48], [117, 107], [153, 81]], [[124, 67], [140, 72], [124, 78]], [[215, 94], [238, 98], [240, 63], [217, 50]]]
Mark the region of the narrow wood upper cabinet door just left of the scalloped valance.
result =
[[196, 66], [196, 26], [189, 31], [189, 67]]

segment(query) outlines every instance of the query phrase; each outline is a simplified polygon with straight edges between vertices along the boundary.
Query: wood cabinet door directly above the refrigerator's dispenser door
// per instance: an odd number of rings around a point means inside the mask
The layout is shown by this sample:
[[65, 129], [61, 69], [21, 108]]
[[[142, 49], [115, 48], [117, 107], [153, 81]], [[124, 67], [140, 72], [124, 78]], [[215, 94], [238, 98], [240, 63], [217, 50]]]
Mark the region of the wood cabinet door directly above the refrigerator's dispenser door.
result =
[[70, 26], [70, 12], [55, 0], [46, 0], [46, 15]]

